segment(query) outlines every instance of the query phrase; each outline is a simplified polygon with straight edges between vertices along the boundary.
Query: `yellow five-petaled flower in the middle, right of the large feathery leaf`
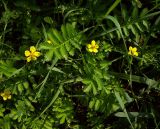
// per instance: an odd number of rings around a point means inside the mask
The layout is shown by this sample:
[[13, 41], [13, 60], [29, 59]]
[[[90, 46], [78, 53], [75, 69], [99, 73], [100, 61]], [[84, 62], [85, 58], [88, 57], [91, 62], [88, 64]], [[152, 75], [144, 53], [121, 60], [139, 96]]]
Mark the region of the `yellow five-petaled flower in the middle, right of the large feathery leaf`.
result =
[[91, 44], [87, 45], [87, 49], [89, 52], [97, 53], [98, 48], [99, 48], [99, 45], [94, 40], [92, 40]]

